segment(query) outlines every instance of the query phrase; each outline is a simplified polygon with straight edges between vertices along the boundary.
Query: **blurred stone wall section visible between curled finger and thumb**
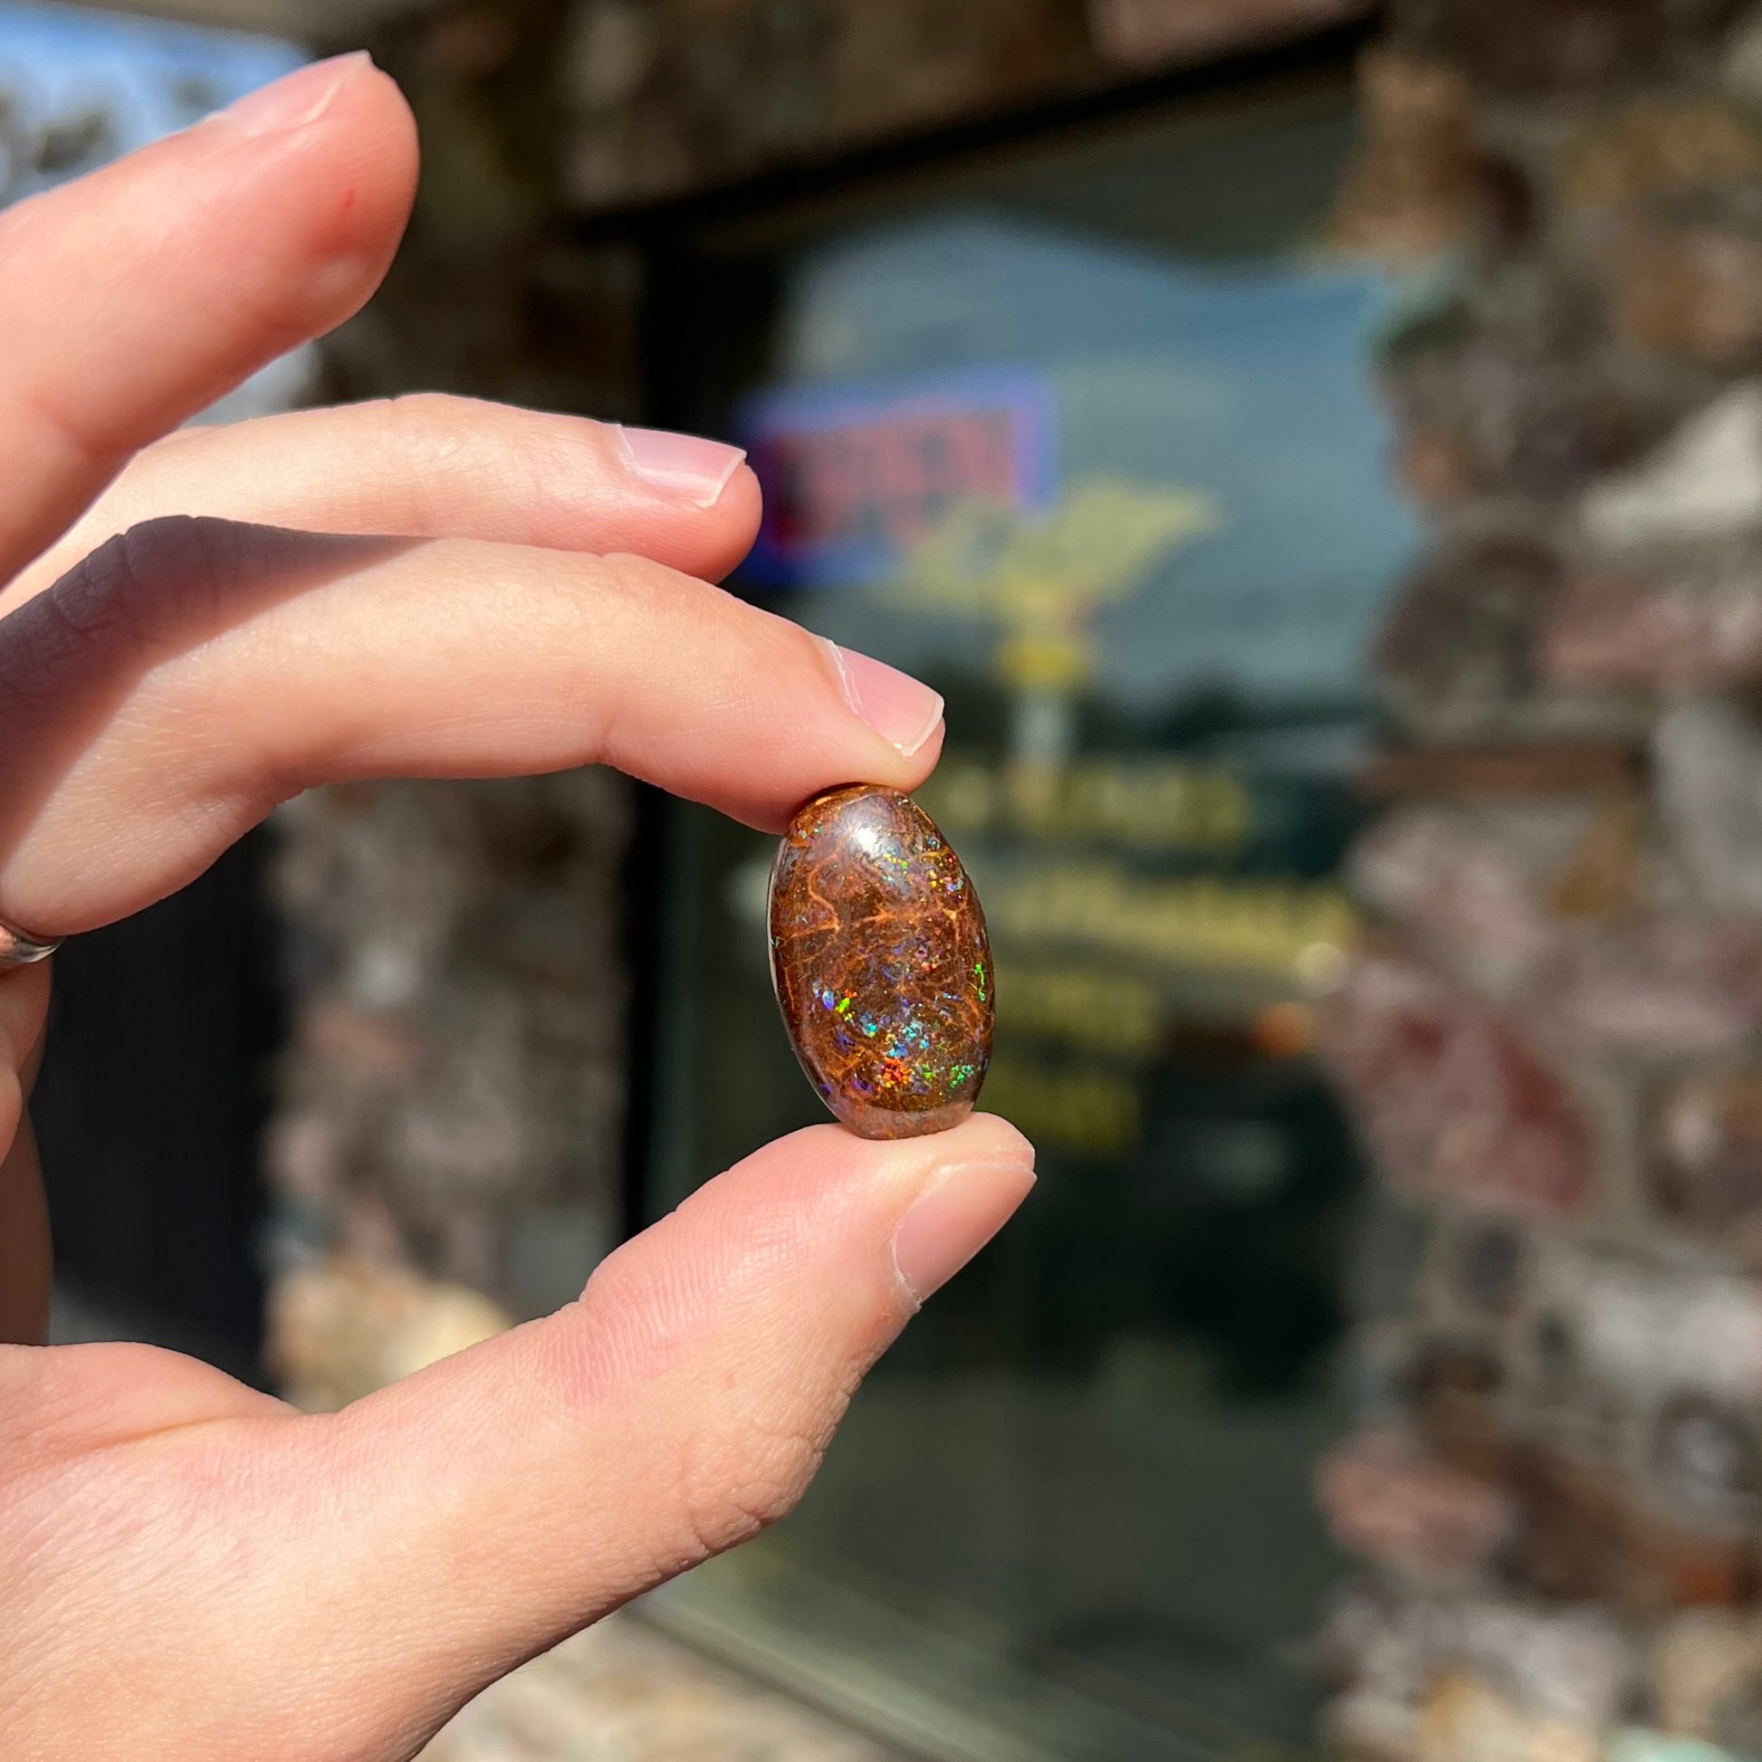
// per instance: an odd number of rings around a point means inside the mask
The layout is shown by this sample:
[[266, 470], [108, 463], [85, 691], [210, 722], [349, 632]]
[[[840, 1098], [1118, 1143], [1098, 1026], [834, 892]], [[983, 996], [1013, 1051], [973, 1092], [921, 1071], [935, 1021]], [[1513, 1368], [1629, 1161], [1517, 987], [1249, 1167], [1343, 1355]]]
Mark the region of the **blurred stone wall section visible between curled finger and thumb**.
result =
[[574, 1299], [622, 1221], [629, 789], [326, 789], [282, 816], [300, 997], [271, 1350], [335, 1408]]

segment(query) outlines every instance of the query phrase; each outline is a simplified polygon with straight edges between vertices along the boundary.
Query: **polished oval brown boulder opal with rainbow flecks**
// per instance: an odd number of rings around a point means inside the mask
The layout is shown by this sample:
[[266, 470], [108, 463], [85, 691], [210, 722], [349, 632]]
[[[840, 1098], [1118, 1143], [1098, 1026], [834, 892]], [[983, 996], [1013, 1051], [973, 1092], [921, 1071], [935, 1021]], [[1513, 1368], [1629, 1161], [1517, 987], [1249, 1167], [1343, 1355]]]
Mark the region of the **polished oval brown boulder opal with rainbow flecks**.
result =
[[862, 1138], [946, 1131], [992, 1047], [985, 913], [911, 796], [867, 784], [789, 823], [770, 886], [770, 966], [795, 1054]]

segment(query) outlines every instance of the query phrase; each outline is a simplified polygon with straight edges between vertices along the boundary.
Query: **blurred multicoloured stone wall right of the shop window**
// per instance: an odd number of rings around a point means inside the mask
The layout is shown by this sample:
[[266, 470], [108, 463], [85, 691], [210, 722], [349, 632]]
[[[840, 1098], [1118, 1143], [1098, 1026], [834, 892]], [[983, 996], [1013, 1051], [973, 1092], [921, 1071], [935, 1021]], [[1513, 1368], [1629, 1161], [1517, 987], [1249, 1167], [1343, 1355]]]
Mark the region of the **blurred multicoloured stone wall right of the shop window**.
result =
[[1762, 1753], [1762, 16], [1410, 0], [1337, 241], [1425, 555], [1327, 1059], [1415, 1276], [1334, 1739]]

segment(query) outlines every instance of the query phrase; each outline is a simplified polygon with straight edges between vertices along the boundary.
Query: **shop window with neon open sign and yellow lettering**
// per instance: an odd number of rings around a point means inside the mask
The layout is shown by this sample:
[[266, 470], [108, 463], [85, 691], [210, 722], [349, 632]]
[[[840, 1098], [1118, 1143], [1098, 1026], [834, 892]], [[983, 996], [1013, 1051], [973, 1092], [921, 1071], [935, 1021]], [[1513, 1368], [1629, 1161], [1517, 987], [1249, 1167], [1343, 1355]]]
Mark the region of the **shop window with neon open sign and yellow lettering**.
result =
[[[858, 1397], [796, 1517], [657, 1610], [946, 1755], [1307, 1746], [1373, 1203], [1309, 1055], [1415, 532], [1323, 250], [1343, 78], [705, 229], [670, 421], [742, 439], [737, 587], [948, 700], [923, 805], [997, 959], [1022, 1218]], [[647, 1203], [819, 1117], [774, 840], [663, 828]], [[677, 1013], [684, 1011], [684, 1013]]]

